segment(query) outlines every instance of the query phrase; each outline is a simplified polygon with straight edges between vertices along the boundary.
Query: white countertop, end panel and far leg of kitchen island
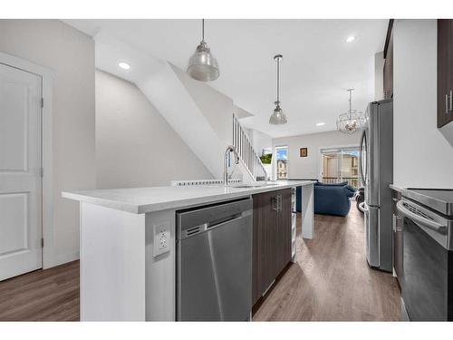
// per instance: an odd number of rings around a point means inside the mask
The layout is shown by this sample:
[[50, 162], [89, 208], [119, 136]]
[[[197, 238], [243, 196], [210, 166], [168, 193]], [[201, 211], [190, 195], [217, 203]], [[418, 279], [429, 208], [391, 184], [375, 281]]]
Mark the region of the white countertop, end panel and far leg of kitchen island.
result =
[[176, 319], [180, 209], [302, 187], [303, 236], [313, 238], [313, 182], [63, 192], [64, 198], [80, 201], [81, 320]]

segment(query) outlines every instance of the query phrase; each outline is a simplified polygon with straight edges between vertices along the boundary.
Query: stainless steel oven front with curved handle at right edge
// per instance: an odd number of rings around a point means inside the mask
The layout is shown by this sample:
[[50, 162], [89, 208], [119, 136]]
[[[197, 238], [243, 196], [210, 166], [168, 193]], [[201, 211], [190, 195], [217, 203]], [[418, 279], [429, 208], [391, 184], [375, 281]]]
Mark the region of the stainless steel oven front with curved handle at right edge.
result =
[[453, 218], [403, 197], [401, 295], [410, 321], [453, 320]]

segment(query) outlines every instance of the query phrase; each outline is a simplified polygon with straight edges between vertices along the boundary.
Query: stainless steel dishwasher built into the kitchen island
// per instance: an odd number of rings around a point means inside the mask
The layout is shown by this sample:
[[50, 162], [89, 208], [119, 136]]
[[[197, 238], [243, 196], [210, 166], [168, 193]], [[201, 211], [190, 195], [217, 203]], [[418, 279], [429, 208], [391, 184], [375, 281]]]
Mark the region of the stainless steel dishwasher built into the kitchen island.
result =
[[249, 319], [252, 202], [238, 199], [177, 212], [177, 320]]

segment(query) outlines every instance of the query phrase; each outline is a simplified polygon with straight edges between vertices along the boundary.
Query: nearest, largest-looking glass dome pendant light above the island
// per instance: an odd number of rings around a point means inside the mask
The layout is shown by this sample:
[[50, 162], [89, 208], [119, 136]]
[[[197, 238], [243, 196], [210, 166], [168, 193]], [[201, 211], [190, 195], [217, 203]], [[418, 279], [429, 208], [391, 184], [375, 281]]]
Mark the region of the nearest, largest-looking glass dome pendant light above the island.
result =
[[219, 75], [217, 59], [205, 42], [205, 19], [201, 19], [201, 42], [188, 59], [188, 75], [201, 82], [215, 81]]

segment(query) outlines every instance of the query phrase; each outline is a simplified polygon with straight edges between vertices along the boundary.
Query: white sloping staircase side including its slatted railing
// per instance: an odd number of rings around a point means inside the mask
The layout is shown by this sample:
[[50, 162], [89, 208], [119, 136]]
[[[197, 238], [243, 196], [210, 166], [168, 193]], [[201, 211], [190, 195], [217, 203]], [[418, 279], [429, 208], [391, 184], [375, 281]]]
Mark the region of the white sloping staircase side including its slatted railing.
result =
[[[233, 178], [245, 182], [267, 180], [253, 143], [236, 115], [231, 115], [234, 112], [231, 98], [191, 79], [175, 65], [123, 43], [109, 32], [101, 30], [95, 40], [96, 67], [135, 83], [214, 179], [223, 178], [224, 153], [233, 144], [241, 160], [236, 172], [233, 169]], [[117, 63], [111, 62], [111, 55], [124, 55], [135, 65], [134, 69], [121, 72]]]

